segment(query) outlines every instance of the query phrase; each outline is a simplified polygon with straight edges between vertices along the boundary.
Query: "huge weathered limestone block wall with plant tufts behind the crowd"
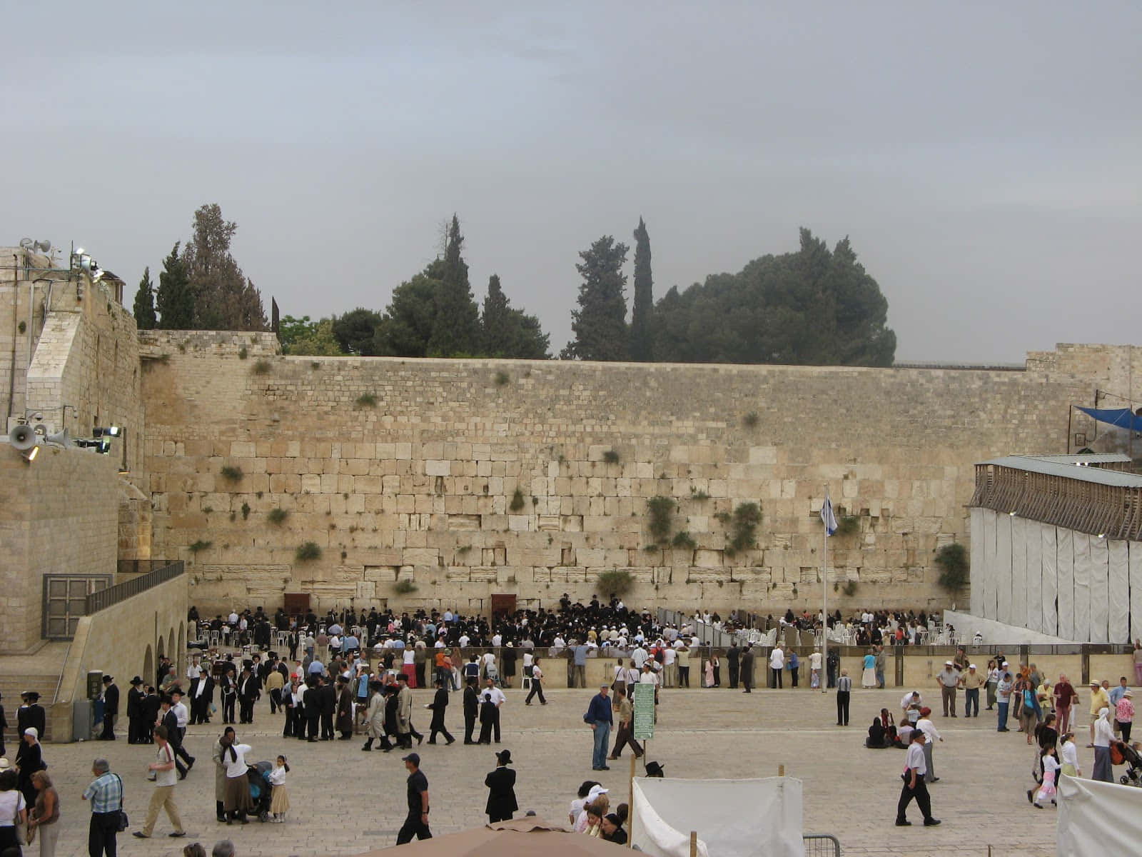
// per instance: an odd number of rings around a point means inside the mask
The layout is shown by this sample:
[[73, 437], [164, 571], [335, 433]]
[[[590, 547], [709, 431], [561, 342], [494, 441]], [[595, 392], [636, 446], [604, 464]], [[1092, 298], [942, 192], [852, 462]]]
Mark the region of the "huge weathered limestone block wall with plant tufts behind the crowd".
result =
[[[1059, 370], [283, 358], [230, 333], [148, 333], [143, 351], [153, 551], [190, 561], [191, 600], [211, 611], [293, 591], [321, 607], [552, 603], [589, 598], [612, 569], [634, 575], [627, 601], [640, 606], [817, 604], [826, 482], [859, 524], [830, 539], [830, 574], [855, 594], [830, 586], [830, 599], [946, 606], [932, 558], [967, 537], [972, 465], [1062, 451], [1068, 405], [1092, 383]], [[654, 496], [676, 500], [671, 535], [693, 548], [652, 547]], [[758, 546], [731, 558], [719, 516], [745, 502], [763, 507]], [[319, 559], [297, 559], [307, 542]], [[403, 580], [417, 591], [399, 594]]]

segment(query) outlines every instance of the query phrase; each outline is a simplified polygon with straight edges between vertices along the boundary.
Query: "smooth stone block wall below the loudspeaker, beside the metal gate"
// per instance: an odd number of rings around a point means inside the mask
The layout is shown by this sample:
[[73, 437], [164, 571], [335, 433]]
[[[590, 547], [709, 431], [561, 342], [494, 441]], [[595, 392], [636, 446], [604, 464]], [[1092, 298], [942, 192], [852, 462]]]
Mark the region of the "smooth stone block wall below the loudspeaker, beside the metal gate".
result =
[[114, 575], [115, 462], [43, 447], [34, 462], [0, 443], [0, 652], [41, 638], [46, 574]]

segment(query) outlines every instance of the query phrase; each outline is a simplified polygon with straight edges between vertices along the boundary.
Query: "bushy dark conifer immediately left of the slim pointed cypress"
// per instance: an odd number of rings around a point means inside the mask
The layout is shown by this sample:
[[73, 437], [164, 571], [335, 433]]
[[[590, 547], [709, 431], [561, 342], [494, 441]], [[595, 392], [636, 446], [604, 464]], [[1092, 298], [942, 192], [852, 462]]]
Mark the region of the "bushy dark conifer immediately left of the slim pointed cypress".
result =
[[574, 339], [568, 343], [561, 357], [627, 359], [627, 277], [622, 273], [627, 249], [625, 243], [616, 243], [611, 235], [603, 235], [579, 254], [582, 262], [576, 270], [582, 283], [579, 286], [579, 309], [571, 311]]

